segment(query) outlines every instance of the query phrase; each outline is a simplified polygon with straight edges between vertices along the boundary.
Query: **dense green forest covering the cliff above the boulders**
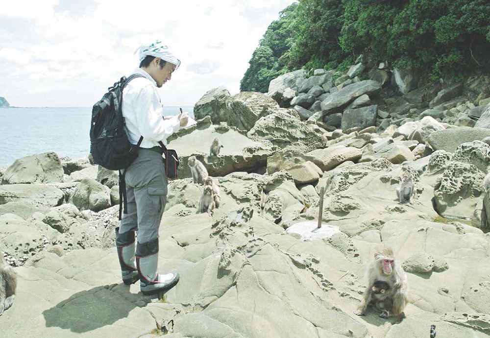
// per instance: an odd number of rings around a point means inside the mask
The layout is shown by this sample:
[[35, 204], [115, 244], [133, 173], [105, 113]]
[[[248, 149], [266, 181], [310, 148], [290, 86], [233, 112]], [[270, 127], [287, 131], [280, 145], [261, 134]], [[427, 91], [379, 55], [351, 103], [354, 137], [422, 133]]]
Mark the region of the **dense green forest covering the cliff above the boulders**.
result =
[[252, 54], [241, 91], [304, 68], [368, 61], [416, 68], [430, 80], [490, 69], [489, 0], [299, 0], [272, 22]]

